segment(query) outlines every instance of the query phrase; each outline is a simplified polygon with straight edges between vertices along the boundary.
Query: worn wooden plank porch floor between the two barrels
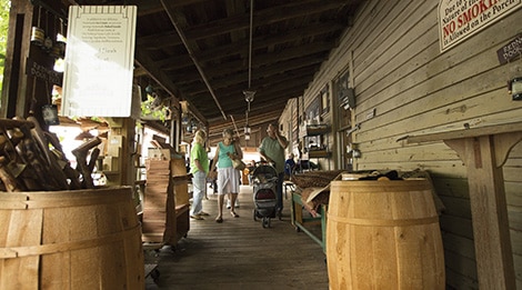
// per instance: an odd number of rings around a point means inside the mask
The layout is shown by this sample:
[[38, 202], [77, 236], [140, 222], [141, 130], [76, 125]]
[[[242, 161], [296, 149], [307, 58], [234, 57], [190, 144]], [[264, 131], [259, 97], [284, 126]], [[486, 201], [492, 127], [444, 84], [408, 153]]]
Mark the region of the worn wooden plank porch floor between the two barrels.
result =
[[[211, 216], [191, 220], [187, 238], [174, 248], [147, 251], [145, 262], [158, 262], [159, 279], [145, 289], [328, 289], [325, 256], [321, 247], [291, 224], [291, 196], [284, 200], [282, 220], [264, 229], [253, 220], [252, 188], [241, 186], [240, 208], [233, 218], [223, 209], [217, 223], [217, 194], [208, 190], [203, 210]], [[320, 233], [319, 226], [312, 229]]]

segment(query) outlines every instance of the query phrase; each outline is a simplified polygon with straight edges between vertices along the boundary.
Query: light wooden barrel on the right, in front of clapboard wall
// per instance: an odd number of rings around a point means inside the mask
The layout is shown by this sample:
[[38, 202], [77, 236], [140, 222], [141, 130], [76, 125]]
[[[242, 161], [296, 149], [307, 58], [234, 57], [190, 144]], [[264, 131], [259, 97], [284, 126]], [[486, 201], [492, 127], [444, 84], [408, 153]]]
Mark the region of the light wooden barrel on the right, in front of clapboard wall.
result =
[[332, 181], [330, 289], [444, 289], [444, 253], [428, 180]]

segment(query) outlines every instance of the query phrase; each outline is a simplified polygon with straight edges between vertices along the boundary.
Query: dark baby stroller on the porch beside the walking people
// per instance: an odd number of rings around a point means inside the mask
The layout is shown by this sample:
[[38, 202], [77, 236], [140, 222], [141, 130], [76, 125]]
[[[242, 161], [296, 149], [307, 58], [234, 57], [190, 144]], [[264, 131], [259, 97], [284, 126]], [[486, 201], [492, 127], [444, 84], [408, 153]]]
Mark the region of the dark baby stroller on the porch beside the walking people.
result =
[[253, 220], [263, 219], [263, 228], [270, 228], [270, 220], [275, 218], [278, 197], [278, 172], [272, 166], [259, 164], [252, 173]]

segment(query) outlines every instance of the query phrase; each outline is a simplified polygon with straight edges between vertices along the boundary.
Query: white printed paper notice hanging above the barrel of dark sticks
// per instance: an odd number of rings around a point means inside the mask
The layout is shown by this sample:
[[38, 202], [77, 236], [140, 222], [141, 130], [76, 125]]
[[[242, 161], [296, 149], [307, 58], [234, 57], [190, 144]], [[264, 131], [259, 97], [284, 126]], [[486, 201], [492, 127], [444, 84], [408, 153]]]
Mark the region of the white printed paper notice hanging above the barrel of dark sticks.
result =
[[132, 96], [135, 19], [135, 6], [69, 8], [62, 116], [130, 117], [140, 106]]

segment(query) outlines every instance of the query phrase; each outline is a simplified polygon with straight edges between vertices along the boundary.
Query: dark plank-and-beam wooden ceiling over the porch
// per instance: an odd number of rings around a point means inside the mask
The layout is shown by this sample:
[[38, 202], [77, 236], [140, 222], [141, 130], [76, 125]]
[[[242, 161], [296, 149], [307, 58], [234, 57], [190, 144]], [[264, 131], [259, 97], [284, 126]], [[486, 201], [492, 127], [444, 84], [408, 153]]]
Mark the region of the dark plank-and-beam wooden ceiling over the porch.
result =
[[215, 140], [233, 128], [232, 119], [242, 131], [243, 90], [255, 91], [252, 128], [277, 121], [338, 46], [362, 0], [254, 0], [253, 14], [250, 0], [68, 2], [138, 6], [134, 76], [153, 82], [162, 98], [187, 100]]

